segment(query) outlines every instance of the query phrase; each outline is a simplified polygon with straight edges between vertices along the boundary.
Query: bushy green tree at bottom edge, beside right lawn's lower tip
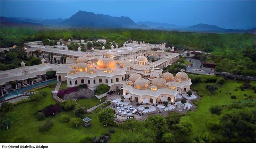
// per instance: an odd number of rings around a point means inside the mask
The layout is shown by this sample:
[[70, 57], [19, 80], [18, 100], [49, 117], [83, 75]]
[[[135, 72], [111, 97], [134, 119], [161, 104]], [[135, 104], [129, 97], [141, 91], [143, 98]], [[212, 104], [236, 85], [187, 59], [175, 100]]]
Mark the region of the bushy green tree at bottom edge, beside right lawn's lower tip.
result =
[[192, 124], [188, 121], [182, 121], [178, 124], [174, 124], [173, 131], [175, 133], [175, 137], [177, 137], [177, 142], [184, 143], [189, 142], [189, 136], [192, 134]]

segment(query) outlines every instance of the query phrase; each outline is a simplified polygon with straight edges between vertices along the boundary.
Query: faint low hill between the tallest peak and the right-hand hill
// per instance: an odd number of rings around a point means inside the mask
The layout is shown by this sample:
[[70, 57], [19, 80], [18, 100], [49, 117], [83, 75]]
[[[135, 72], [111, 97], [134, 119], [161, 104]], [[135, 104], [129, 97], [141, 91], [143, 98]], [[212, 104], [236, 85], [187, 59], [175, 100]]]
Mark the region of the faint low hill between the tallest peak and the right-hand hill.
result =
[[151, 21], [139, 21], [137, 22], [138, 25], [147, 25], [151, 28], [165, 28], [165, 29], [177, 29], [177, 28], [185, 28], [186, 26], [178, 26], [178, 25], [174, 25], [174, 24], [168, 24], [168, 23], [159, 23], [159, 22], [151, 22]]

